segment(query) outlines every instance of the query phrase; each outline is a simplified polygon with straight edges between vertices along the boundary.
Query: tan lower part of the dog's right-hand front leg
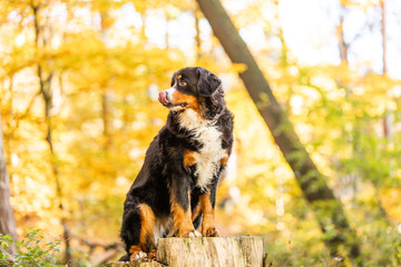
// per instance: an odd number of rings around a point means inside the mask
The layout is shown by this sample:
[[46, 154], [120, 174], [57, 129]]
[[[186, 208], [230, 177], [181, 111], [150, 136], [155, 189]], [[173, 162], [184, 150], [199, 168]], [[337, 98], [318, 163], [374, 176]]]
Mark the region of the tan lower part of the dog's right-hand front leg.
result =
[[199, 197], [200, 209], [202, 209], [202, 236], [204, 237], [216, 237], [218, 231], [215, 227], [214, 220], [214, 208], [211, 202], [211, 192], [205, 192]]

